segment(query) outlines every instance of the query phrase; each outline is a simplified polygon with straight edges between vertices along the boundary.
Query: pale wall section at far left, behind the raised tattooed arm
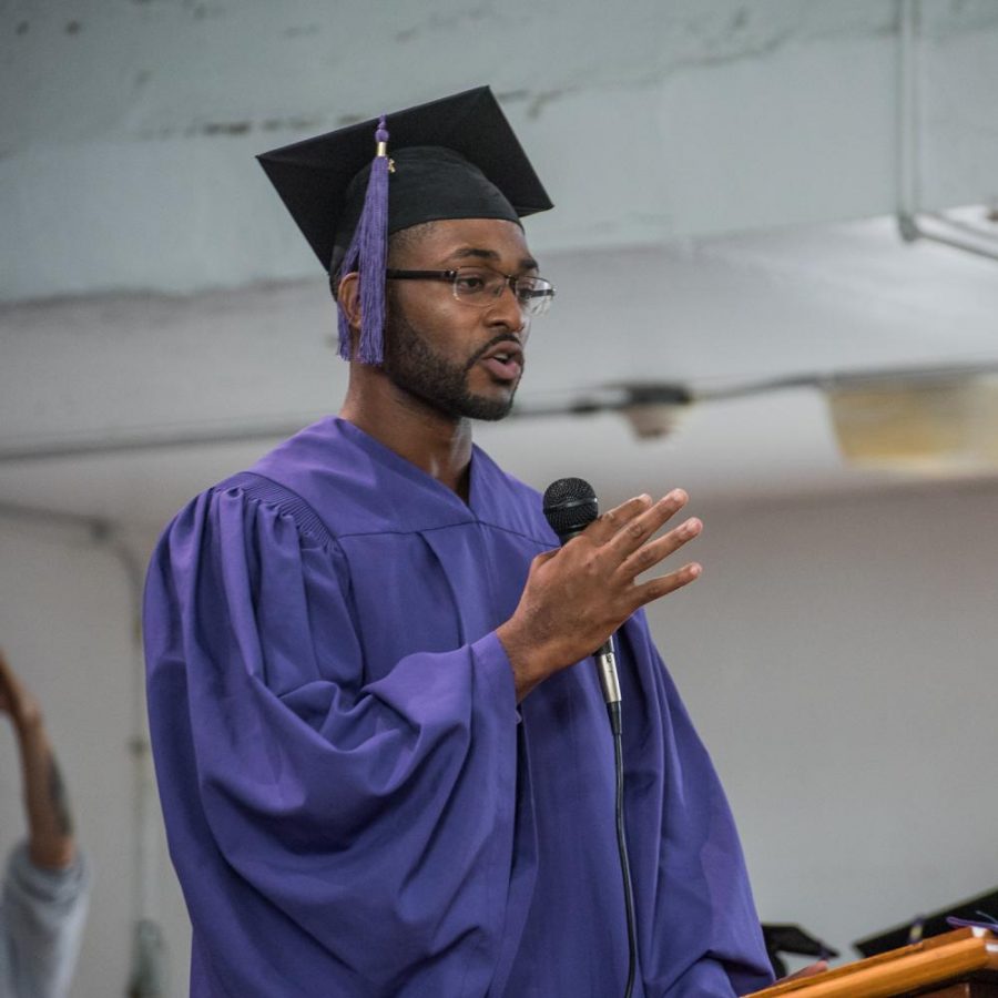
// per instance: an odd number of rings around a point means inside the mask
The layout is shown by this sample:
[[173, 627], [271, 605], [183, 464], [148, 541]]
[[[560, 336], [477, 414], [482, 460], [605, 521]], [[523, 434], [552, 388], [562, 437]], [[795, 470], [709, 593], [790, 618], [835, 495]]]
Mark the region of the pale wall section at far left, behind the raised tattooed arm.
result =
[[[140, 543], [140, 547], [142, 544]], [[123, 567], [85, 530], [0, 516], [0, 643], [44, 710], [79, 839], [95, 872], [73, 998], [123, 996], [131, 967], [136, 847], [129, 743], [141, 692]], [[159, 808], [156, 807], [159, 823]], [[0, 722], [0, 855], [27, 831], [17, 742]], [[172, 996], [186, 994], [190, 930], [162, 834], [156, 904]]]

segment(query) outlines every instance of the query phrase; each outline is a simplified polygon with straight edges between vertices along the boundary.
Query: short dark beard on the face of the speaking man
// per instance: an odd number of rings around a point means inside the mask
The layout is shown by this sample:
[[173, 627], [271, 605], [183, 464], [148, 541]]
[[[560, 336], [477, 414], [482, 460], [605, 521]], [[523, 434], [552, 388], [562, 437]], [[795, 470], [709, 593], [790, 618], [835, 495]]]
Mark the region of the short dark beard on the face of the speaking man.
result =
[[487, 398], [468, 390], [468, 375], [483, 354], [509, 334], [485, 344], [464, 364], [434, 349], [401, 309], [389, 307], [385, 316], [383, 370], [397, 388], [450, 419], [502, 419], [512, 407], [512, 389], [506, 398]]

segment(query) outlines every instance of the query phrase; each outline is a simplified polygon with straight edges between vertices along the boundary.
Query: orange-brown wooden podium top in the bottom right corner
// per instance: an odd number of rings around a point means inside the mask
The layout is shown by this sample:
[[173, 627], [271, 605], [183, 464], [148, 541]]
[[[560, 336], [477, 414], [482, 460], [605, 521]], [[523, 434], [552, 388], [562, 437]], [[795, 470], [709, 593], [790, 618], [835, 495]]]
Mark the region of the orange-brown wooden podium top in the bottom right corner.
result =
[[998, 998], [998, 936], [961, 928], [745, 998]]

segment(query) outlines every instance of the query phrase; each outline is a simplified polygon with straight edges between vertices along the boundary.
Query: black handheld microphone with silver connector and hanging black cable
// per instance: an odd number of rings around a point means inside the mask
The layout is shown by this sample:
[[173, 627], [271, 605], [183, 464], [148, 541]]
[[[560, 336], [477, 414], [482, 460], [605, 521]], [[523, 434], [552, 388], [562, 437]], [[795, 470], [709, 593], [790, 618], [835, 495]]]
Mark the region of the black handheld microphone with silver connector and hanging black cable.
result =
[[[562, 544], [581, 533], [600, 513], [600, 503], [592, 486], [581, 478], [559, 478], [544, 491], [544, 517]], [[623, 742], [621, 735], [620, 682], [613, 653], [613, 635], [594, 653], [600, 686], [607, 703], [610, 732], [613, 735], [613, 768], [615, 776], [614, 809], [617, 813], [617, 851], [623, 880], [624, 912], [628, 923], [628, 982], [624, 998], [631, 998], [638, 968], [638, 933], [634, 914], [634, 889], [631, 884], [631, 862], [628, 856], [624, 826]]]

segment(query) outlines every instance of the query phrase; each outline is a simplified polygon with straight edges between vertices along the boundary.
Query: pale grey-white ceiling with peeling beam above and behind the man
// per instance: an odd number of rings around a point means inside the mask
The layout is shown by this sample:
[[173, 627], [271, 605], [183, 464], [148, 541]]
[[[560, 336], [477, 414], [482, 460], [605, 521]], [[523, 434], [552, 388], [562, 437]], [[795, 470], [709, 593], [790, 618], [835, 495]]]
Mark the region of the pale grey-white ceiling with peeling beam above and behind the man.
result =
[[[558, 204], [528, 225], [559, 297], [525, 403], [998, 363], [998, 262], [904, 244], [888, 217], [898, 10], [645, 0], [608, 23], [595, 0], [346, 3], [335, 19], [318, 0], [8, 4], [0, 503], [157, 525], [269, 440], [11, 455], [335, 411], [328, 295], [252, 154], [483, 80]], [[928, 0], [921, 22], [920, 204], [994, 204], [998, 7]], [[908, 480], [844, 468], [808, 389], [696, 408], [668, 440], [639, 442], [618, 416], [478, 439], [538, 487], [581, 475], [608, 500]]]

